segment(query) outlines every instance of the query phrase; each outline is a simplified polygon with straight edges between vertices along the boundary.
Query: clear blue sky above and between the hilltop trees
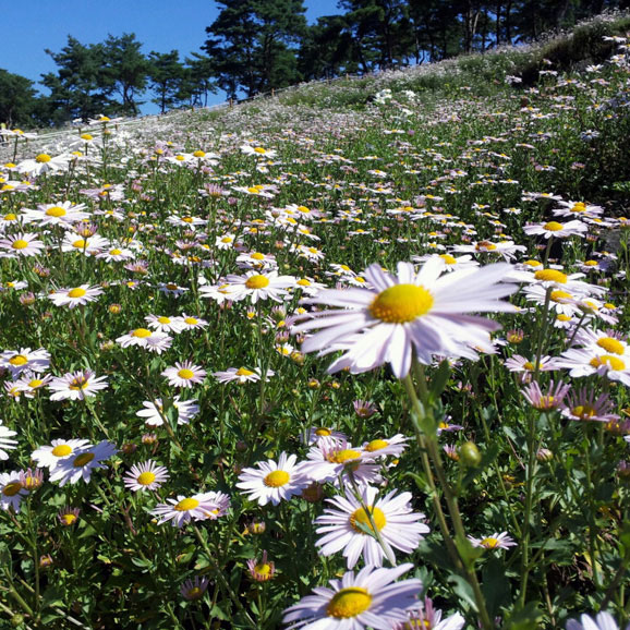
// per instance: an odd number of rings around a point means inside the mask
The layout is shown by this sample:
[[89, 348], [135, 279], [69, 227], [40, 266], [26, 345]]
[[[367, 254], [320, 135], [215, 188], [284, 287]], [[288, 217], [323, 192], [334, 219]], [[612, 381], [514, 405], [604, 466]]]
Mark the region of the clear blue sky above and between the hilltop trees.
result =
[[[109, 34], [135, 33], [147, 54], [173, 48], [182, 58], [199, 52], [205, 27], [219, 11], [211, 0], [5, 0], [1, 4], [0, 68], [33, 81], [56, 71], [45, 50], [59, 52], [69, 35], [82, 44], [97, 44]], [[308, 22], [339, 13], [337, 0], [305, 0], [304, 5]]]

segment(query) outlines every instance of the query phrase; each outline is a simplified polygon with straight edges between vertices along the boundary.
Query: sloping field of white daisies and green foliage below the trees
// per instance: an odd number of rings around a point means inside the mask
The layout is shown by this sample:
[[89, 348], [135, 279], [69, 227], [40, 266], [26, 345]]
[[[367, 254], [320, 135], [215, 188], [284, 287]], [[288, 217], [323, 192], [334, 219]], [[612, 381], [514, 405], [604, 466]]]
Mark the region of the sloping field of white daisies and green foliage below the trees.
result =
[[8, 132], [0, 627], [623, 628], [627, 43]]

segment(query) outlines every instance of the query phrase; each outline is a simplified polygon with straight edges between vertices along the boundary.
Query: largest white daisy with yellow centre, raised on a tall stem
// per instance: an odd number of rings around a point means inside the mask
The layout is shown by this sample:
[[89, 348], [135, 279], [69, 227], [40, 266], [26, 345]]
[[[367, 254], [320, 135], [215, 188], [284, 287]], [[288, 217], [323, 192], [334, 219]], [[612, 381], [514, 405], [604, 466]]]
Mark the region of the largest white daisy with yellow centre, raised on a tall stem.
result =
[[473, 348], [488, 347], [489, 332], [499, 325], [469, 313], [514, 311], [500, 301], [518, 289], [500, 282], [510, 269], [497, 264], [440, 278], [444, 264], [437, 259], [427, 261], [419, 272], [410, 263], [399, 263], [397, 276], [371, 265], [365, 276], [374, 290], [327, 290], [305, 300], [340, 308], [311, 313], [311, 319], [292, 331], [324, 329], [303, 342], [302, 352], [326, 353], [335, 343], [348, 344], [328, 372], [348, 367], [356, 374], [390, 363], [393, 374], [403, 378], [413, 351], [425, 364], [436, 354], [476, 359]]

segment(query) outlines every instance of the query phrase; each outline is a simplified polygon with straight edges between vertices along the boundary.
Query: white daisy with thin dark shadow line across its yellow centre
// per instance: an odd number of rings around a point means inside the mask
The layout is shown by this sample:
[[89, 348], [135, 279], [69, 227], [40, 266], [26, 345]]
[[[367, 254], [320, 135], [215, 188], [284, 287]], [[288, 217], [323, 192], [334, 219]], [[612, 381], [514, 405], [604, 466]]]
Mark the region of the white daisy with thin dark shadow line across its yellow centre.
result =
[[[351, 494], [328, 499], [327, 502], [336, 509], [325, 509], [315, 519], [316, 525], [323, 525], [317, 533], [325, 534], [315, 543], [320, 547], [319, 553], [331, 556], [343, 549], [349, 569], [361, 557], [366, 565], [380, 567], [383, 558], [392, 555], [391, 547], [405, 554], [413, 553], [429, 529], [421, 522], [424, 514], [412, 511], [411, 493], [396, 496], [397, 493], [395, 489], [377, 499], [378, 488], [364, 486], [361, 500]], [[384, 544], [390, 547], [387, 552], [376, 540], [376, 531]]]

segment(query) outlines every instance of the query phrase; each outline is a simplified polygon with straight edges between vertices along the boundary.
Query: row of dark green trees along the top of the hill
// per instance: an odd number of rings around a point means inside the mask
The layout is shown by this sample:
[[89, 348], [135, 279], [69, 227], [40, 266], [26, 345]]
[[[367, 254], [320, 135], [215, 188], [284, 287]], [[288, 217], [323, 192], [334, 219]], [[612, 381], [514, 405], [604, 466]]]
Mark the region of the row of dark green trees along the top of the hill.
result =
[[[145, 54], [134, 34], [46, 50], [56, 72], [35, 82], [0, 69], [0, 122], [61, 125], [100, 113], [136, 116], [150, 95], [161, 112], [205, 106], [221, 89], [252, 97], [346, 73], [368, 73], [536, 39], [630, 0], [339, 0], [307, 24], [303, 0], [217, 0], [201, 52]], [[202, 28], [199, 32], [202, 34]], [[199, 39], [202, 38], [202, 35]]]

